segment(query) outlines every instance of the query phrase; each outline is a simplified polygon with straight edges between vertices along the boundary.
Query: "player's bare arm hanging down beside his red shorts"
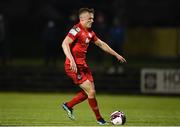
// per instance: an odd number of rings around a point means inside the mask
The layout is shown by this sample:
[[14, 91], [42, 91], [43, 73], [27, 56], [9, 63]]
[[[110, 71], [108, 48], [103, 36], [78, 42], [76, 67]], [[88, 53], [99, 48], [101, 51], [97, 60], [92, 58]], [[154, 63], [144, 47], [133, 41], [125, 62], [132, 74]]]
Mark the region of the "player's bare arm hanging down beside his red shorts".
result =
[[62, 48], [63, 48], [64, 54], [70, 60], [70, 69], [77, 73], [77, 66], [69, 47], [71, 43], [73, 43], [73, 40], [70, 37], [66, 36], [66, 38], [62, 42]]

